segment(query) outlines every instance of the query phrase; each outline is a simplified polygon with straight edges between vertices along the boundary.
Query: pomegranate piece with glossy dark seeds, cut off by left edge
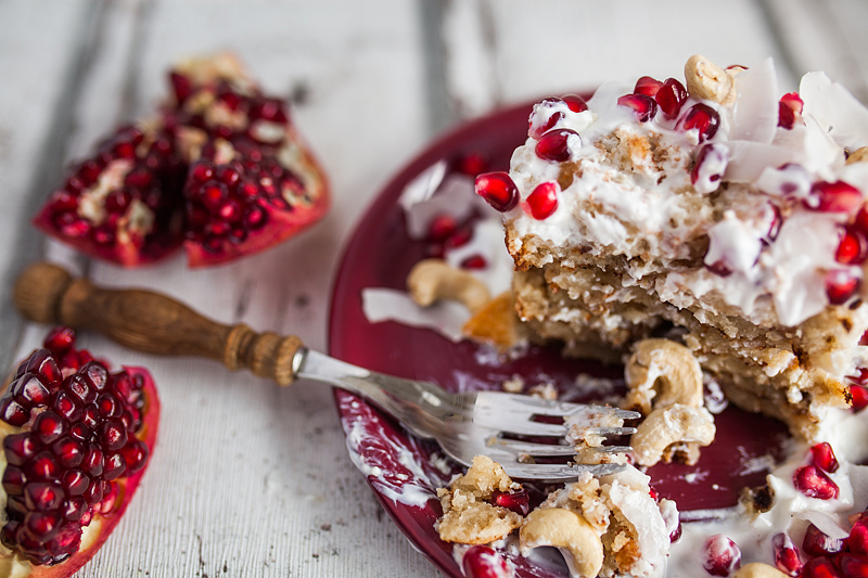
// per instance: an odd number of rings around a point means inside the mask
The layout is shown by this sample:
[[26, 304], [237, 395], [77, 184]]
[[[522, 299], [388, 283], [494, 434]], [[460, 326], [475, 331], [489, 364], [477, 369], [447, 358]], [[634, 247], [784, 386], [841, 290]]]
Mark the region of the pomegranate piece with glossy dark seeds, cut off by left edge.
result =
[[142, 368], [111, 373], [58, 327], [0, 396], [0, 576], [64, 577], [120, 521], [156, 441], [159, 399]]

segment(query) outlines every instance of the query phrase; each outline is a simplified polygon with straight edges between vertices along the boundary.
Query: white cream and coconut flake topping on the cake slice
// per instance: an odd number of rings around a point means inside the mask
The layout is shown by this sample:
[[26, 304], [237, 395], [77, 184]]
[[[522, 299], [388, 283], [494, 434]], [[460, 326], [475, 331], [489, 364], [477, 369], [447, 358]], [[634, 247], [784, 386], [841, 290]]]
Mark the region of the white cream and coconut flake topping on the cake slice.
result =
[[[564, 163], [540, 158], [533, 137], [514, 152], [510, 177], [521, 202], [505, 215], [515, 233], [511, 253], [533, 235], [593, 256], [621, 255], [637, 282], [649, 273], [666, 277], [658, 281], [662, 299], [678, 307], [723, 303], [723, 312], [764, 326], [795, 326], [821, 311], [830, 304], [830, 272], [858, 283], [863, 268], [837, 262], [835, 251], [861, 202], [819, 206], [817, 185], [842, 181], [868, 193], [868, 163], [845, 164], [846, 153], [868, 145], [868, 110], [812, 73], [802, 79], [801, 116], [786, 128], [778, 126], [770, 60], [732, 76], [733, 104], [690, 95], [675, 118], [659, 111], [640, 121], [617, 104], [633, 92], [621, 84], [601, 87], [578, 113], [564, 102], [537, 104], [532, 134], [535, 126], [571, 129], [580, 144]], [[707, 139], [684, 129], [698, 104], [719, 115]], [[524, 205], [547, 181], [562, 191], [554, 213], [538, 220]], [[673, 261], [694, 265], [666, 272]]]

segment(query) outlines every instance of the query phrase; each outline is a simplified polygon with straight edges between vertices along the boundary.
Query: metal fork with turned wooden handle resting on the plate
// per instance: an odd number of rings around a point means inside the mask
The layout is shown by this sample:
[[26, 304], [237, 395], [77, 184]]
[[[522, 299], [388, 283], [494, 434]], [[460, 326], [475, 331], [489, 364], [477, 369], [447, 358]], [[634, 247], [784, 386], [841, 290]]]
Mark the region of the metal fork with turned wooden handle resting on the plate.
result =
[[[247, 325], [224, 325], [166, 295], [143, 290], [108, 290], [74, 279], [50, 264], [28, 267], [16, 280], [13, 301], [33, 321], [95, 330], [120, 345], [157, 355], [194, 355], [221, 361], [230, 370], [250, 369], [279, 385], [296, 377], [328, 383], [373, 402], [412, 434], [435, 439], [469, 466], [485, 454], [515, 479], [561, 483], [583, 472], [608, 475], [617, 463], [538, 463], [572, 457], [576, 438], [636, 432], [624, 420], [640, 415], [501, 391], [452, 394], [429, 382], [372, 372], [308, 349], [295, 335], [256, 333]], [[560, 423], [551, 423], [560, 421]], [[547, 438], [540, 442], [523, 438]], [[628, 447], [596, 446], [600, 453]], [[607, 461], [601, 459], [601, 462]]]

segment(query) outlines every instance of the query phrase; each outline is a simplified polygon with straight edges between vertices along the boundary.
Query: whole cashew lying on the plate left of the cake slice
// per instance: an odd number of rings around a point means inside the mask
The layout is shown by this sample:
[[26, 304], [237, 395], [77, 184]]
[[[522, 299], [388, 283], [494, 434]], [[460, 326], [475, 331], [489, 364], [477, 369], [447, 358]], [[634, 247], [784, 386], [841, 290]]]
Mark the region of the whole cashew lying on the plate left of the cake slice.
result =
[[422, 307], [449, 299], [463, 304], [472, 313], [492, 298], [485, 283], [443, 259], [423, 259], [416, 264], [407, 275], [407, 288], [413, 301]]

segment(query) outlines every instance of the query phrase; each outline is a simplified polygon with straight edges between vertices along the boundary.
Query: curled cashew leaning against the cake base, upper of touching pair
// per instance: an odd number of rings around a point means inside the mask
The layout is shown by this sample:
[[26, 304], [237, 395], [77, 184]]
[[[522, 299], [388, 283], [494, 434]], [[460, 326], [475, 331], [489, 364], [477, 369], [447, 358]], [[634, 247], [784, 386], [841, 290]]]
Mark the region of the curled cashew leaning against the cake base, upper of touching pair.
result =
[[675, 403], [700, 408], [703, 404], [702, 369], [684, 345], [669, 339], [642, 339], [637, 343], [625, 369], [625, 407], [643, 414]]

